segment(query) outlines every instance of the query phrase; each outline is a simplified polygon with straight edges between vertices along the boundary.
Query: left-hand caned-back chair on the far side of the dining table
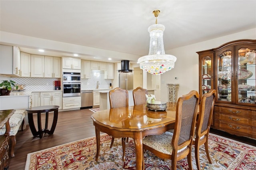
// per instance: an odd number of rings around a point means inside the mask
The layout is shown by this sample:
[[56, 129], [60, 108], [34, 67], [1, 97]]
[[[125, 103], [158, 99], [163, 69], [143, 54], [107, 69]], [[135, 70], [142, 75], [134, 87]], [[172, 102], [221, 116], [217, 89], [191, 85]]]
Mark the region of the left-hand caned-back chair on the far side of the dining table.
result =
[[[110, 109], [128, 106], [128, 91], [125, 89], [121, 89], [119, 87], [116, 87], [115, 89], [110, 90], [109, 103], [110, 103]], [[112, 137], [110, 148], [112, 148], [114, 144], [114, 139], [115, 138]], [[125, 139], [126, 138], [122, 138], [123, 160], [125, 160]]]

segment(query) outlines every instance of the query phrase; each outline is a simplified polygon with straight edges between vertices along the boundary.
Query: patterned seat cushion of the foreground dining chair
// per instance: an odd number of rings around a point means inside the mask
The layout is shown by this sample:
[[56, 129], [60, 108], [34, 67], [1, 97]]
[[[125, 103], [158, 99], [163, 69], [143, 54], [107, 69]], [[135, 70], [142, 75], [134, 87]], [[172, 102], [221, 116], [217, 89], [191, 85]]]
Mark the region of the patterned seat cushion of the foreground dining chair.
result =
[[[164, 132], [160, 135], [149, 135], [146, 136], [142, 143], [149, 146], [150, 148], [153, 148], [154, 150], [157, 150], [159, 152], [162, 152], [164, 154], [172, 154], [172, 132]], [[181, 152], [182, 150], [186, 149], [186, 147], [178, 150], [178, 152]]]

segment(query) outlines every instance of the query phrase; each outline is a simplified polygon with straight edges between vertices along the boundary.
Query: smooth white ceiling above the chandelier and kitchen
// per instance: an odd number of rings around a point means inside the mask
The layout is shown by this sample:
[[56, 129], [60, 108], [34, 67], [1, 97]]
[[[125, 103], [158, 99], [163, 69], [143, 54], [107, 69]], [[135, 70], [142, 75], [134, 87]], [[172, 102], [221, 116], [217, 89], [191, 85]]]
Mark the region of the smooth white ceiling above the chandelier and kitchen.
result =
[[256, 0], [0, 0], [0, 30], [142, 56], [156, 9], [165, 50], [256, 28]]

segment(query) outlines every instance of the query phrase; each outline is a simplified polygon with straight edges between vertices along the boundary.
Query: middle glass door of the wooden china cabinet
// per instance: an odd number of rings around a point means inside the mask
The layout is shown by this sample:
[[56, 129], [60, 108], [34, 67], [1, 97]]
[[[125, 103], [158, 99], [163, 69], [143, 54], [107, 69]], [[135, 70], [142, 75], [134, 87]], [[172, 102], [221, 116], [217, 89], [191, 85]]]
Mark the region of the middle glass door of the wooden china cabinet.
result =
[[232, 102], [232, 81], [234, 73], [232, 71], [232, 51], [230, 49], [217, 53], [217, 92], [218, 101]]

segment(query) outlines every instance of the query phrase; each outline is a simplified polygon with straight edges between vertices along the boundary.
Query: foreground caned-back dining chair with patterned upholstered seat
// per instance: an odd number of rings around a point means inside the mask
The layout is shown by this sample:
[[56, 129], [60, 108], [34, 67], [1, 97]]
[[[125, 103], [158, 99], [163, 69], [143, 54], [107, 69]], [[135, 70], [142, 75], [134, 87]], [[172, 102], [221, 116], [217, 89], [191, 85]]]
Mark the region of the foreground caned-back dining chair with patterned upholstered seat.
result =
[[149, 135], [143, 139], [143, 149], [149, 150], [159, 158], [172, 160], [172, 170], [176, 170], [177, 161], [185, 157], [188, 159], [189, 169], [192, 170], [191, 147], [198, 99], [199, 94], [194, 90], [179, 97], [173, 133], [167, 131], [160, 135]]

